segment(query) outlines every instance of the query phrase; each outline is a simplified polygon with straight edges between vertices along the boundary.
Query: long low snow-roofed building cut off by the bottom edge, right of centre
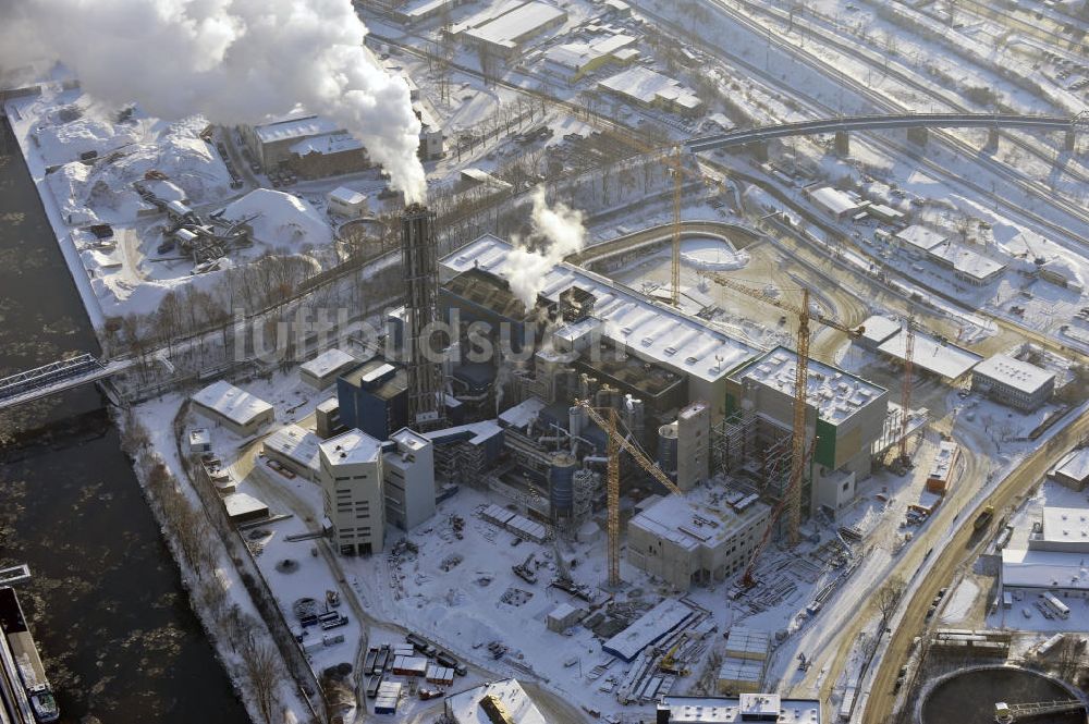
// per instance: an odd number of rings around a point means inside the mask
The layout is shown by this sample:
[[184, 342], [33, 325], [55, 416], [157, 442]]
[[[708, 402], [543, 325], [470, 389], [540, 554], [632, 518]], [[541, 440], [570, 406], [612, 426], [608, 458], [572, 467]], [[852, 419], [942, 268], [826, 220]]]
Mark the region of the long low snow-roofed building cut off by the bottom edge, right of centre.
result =
[[778, 694], [743, 694], [737, 698], [663, 697], [656, 724], [736, 724], [778, 722], [820, 724], [820, 701], [783, 699]]

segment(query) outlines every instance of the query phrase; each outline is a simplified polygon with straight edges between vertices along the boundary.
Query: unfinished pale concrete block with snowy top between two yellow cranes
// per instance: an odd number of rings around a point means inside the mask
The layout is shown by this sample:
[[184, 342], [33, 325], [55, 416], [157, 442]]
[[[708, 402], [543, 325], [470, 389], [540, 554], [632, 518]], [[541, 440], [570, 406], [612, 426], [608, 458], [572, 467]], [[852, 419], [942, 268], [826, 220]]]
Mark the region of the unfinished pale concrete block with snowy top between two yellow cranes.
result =
[[724, 580], [748, 564], [770, 512], [757, 501], [737, 511], [663, 498], [628, 523], [628, 563], [680, 591]]

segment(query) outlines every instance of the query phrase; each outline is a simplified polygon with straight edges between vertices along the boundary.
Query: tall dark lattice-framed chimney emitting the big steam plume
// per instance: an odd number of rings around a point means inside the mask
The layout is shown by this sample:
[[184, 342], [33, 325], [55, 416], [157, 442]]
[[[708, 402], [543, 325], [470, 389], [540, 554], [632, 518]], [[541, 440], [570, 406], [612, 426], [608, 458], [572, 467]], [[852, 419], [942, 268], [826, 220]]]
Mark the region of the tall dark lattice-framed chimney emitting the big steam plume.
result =
[[431, 348], [428, 334], [439, 316], [439, 259], [435, 213], [423, 204], [411, 204], [401, 216], [401, 267], [408, 420], [416, 430], [433, 429], [445, 420], [441, 349]]

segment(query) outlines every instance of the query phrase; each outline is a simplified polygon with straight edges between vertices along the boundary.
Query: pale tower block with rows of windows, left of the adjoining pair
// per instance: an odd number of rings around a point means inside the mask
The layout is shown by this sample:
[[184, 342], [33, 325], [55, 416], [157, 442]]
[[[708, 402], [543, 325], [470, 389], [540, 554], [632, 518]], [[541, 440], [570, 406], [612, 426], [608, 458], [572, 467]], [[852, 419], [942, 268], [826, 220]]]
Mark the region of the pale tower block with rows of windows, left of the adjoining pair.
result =
[[346, 555], [381, 552], [386, 540], [381, 443], [348, 430], [319, 449], [325, 513], [337, 549]]

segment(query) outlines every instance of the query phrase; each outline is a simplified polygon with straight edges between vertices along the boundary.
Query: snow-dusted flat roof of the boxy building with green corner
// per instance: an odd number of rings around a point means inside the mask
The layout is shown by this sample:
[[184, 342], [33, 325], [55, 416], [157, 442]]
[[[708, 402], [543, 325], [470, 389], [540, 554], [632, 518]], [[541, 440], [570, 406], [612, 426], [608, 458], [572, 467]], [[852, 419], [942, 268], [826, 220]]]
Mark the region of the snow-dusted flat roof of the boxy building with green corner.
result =
[[[738, 380], [751, 380], [794, 396], [794, 375], [798, 355], [786, 347], [775, 347], [763, 357], [747, 365]], [[860, 377], [809, 360], [809, 379], [806, 401], [817, 408], [822, 420], [840, 424], [884, 394], [885, 389]]]

